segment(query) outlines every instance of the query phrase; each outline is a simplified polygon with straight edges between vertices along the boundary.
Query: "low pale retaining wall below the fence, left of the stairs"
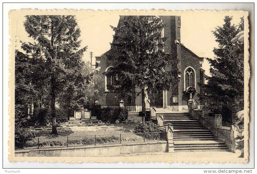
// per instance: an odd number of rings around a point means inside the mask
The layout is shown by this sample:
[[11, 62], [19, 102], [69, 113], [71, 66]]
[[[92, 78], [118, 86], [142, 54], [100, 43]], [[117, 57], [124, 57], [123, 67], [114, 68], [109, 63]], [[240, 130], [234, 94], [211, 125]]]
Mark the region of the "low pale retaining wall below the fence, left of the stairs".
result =
[[167, 141], [128, 143], [114, 145], [96, 145], [82, 147], [63, 147], [52, 149], [17, 150], [15, 156], [117, 156], [138, 152], [167, 152]]

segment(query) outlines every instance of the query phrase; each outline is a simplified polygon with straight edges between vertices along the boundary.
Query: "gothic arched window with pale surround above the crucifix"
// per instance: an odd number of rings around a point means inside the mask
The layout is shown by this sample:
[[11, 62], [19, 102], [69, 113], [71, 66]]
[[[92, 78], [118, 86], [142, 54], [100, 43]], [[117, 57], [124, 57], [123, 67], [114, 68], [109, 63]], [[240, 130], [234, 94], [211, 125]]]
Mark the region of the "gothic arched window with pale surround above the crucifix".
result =
[[196, 88], [195, 77], [195, 70], [192, 67], [187, 67], [184, 71], [184, 90], [186, 90], [186, 88], [189, 86], [193, 86]]

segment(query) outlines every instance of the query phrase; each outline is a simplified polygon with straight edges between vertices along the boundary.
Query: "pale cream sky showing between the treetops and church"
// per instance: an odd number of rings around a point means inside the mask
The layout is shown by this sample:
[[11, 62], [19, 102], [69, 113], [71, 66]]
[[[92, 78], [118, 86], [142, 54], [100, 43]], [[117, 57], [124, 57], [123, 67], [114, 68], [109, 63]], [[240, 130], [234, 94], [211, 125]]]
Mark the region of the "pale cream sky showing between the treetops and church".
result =
[[[100, 56], [110, 49], [110, 43], [113, 39], [114, 31], [110, 25], [117, 27], [121, 13], [113, 13], [105, 11], [98, 12], [77, 12], [76, 14], [78, 26], [81, 29], [81, 47], [88, 46], [87, 51], [84, 52], [84, 60], [90, 61], [90, 52], [93, 52], [92, 64], [95, 65], [95, 56]], [[224, 13], [215, 13], [213, 11], [206, 11], [204, 13], [187, 13], [183, 12], [181, 16], [180, 38], [181, 43], [193, 51], [200, 57], [213, 58], [213, 48], [218, 47], [212, 30], [216, 26], [224, 24]], [[236, 15], [236, 14], [235, 14]], [[232, 24], [240, 22], [240, 15], [235, 16]], [[16, 39], [22, 41], [33, 41], [28, 37], [23, 27], [24, 16], [20, 16], [16, 21]], [[20, 43], [17, 42], [16, 49], [22, 51]], [[204, 59], [202, 68], [206, 75], [209, 74], [209, 64]]]

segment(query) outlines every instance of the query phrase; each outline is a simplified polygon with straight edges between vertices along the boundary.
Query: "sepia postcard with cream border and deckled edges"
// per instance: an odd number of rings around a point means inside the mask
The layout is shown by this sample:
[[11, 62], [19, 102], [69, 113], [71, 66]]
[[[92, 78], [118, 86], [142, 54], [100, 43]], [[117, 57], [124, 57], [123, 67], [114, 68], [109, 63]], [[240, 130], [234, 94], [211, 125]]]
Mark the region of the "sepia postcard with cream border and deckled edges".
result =
[[9, 19], [9, 161], [248, 162], [248, 12]]

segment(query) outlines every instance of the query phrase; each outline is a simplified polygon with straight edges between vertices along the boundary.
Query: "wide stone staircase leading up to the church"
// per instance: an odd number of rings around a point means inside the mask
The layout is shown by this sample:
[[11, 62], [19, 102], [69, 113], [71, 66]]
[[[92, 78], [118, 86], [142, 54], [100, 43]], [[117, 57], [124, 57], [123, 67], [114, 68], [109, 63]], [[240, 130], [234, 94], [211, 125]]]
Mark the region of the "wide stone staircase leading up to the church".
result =
[[174, 152], [229, 151], [226, 144], [216, 139], [213, 133], [203, 128], [186, 112], [165, 112], [163, 126], [173, 127]]

